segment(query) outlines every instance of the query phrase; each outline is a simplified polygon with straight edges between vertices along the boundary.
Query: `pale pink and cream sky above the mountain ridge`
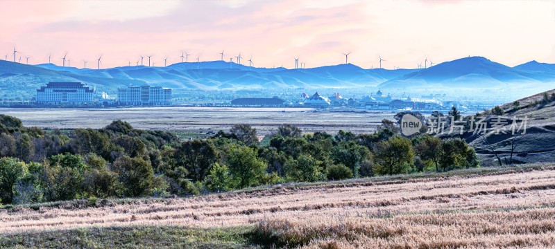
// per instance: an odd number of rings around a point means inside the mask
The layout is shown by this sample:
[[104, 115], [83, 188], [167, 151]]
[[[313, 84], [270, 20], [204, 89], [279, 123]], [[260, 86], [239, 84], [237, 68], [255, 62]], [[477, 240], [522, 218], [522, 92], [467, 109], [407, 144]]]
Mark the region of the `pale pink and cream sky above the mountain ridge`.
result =
[[[0, 0], [0, 59], [101, 68], [214, 61], [416, 68], [484, 56], [555, 63], [555, 1]], [[234, 62], [236, 59], [234, 58]], [[141, 62], [139, 61], [139, 64]], [[429, 63], [429, 62], [428, 62]], [[144, 60], [148, 64], [148, 59]]]

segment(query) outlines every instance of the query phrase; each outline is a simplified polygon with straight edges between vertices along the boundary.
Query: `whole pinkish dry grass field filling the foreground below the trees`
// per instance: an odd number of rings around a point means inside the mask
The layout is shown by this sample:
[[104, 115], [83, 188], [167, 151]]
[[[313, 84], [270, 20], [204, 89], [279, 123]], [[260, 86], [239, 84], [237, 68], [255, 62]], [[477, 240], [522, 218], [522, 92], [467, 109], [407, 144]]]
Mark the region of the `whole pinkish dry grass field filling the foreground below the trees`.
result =
[[[232, 239], [237, 243], [207, 246], [221, 248], [553, 248], [554, 179], [555, 166], [534, 165], [282, 185], [188, 199], [14, 206], [0, 211], [0, 247], [41, 247], [29, 238], [56, 238], [53, 234], [60, 232], [83, 239], [96, 234], [108, 241], [105, 246], [114, 243], [113, 234], [143, 228], [161, 241], [186, 230], [219, 231], [220, 239], [246, 234]], [[167, 232], [170, 228], [173, 232]], [[213, 233], [208, 234], [200, 237], [210, 240]]]

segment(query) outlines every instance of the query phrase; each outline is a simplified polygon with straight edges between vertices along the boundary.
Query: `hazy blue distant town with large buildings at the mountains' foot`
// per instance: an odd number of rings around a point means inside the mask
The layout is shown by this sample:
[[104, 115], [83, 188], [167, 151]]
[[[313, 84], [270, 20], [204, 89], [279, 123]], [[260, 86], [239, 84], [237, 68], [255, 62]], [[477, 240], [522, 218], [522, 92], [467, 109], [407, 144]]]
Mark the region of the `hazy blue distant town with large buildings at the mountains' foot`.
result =
[[[308, 107], [314, 109], [364, 109], [374, 111], [434, 111], [447, 110], [456, 107], [461, 111], [481, 111], [490, 109], [494, 102], [476, 102], [464, 100], [449, 100], [445, 94], [411, 96], [395, 96], [377, 89], [368, 95], [358, 98], [344, 98], [341, 93], [335, 92], [324, 95], [314, 93], [297, 93], [296, 95], [274, 95], [261, 97], [264, 92], [237, 91], [234, 94], [219, 96], [219, 100], [198, 101], [191, 97], [191, 101], [180, 96], [172, 95], [172, 89], [162, 86], [128, 86], [117, 89], [117, 96], [96, 91], [94, 87], [86, 86], [81, 82], [49, 82], [46, 86], [37, 89], [35, 98], [28, 101], [6, 101], [0, 104], [3, 107], [283, 107], [296, 108]], [[201, 93], [197, 93], [201, 95]], [[255, 96], [251, 96], [255, 95]], [[196, 97], [198, 98], [198, 96]]]

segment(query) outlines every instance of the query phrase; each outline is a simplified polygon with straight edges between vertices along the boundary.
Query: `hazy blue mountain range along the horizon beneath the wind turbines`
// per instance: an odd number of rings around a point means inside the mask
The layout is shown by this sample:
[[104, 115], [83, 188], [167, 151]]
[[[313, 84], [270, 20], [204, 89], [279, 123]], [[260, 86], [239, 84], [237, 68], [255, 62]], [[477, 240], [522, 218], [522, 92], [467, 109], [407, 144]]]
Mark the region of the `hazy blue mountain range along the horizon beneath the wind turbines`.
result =
[[99, 91], [118, 87], [160, 85], [172, 89], [330, 89], [364, 86], [382, 89], [496, 88], [507, 84], [555, 82], [555, 64], [536, 61], [513, 68], [484, 57], [465, 57], [429, 68], [364, 69], [353, 64], [317, 68], [257, 68], [234, 62], [189, 62], [159, 66], [81, 69], [55, 64], [26, 65], [0, 61], [0, 91], [34, 92], [51, 81], [77, 81]]

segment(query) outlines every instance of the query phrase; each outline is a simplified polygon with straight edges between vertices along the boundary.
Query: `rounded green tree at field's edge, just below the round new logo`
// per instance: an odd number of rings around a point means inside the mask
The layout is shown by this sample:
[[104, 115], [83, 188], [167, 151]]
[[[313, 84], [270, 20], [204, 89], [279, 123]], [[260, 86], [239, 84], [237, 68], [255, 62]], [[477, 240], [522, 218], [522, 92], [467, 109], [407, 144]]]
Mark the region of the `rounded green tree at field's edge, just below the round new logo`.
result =
[[408, 167], [414, 161], [411, 141], [401, 136], [393, 136], [387, 141], [378, 142], [376, 150], [379, 164], [378, 174], [391, 175], [407, 172]]

